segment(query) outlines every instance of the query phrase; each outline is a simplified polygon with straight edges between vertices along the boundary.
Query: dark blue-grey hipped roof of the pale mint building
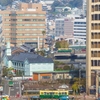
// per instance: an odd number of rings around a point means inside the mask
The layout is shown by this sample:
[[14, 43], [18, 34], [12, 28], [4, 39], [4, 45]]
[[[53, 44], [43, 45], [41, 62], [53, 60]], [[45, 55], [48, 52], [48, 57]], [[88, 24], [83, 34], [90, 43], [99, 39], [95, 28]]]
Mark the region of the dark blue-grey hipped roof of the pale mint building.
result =
[[46, 58], [34, 53], [23, 52], [11, 57], [12, 61], [19, 62], [24, 62], [26, 59], [29, 61], [29, 63], [53, 63], [53, 60], [51, 58]]

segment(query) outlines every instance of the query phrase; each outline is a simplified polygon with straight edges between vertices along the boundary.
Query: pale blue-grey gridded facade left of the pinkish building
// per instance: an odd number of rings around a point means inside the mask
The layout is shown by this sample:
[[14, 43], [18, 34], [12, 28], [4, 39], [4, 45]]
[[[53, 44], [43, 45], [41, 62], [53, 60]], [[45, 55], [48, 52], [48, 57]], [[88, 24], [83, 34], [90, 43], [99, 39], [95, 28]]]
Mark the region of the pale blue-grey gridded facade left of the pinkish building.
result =
[[64, 18], [59, 18], [55, 20], [55, 35], [64, 35]]

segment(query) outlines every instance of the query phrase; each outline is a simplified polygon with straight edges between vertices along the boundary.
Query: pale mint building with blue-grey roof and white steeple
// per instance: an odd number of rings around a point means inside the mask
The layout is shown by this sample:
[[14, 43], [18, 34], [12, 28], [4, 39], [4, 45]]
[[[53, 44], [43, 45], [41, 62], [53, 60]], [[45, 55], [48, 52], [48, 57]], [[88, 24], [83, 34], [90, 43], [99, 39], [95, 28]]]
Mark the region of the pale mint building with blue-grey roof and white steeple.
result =
[[21, 48], [18, 51], [12, 51], [10, 44], [7, 43], [2, 58], [4, 66], [13, 67], [15, 72], [21, 71], [23, 75], [31, 76], [33, 72], [37, 71], [54, 71], [54, 62], [52, 58], [46, 58], [32, 52], [24, 52]]

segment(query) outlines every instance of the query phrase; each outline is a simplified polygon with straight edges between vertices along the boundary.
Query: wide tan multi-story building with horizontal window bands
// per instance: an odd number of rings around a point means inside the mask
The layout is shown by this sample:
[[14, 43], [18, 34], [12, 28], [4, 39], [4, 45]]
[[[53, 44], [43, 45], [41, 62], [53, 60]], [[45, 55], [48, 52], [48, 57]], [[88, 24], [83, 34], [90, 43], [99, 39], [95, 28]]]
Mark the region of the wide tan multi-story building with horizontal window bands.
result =
[[43, 31], [46, 31], [46, 12], [42, 4], [21, 3], [18, 10], [0, 11], [2, 15], [2, 34], [5, 42], [21, 45], [29, 43], [42, 47]]

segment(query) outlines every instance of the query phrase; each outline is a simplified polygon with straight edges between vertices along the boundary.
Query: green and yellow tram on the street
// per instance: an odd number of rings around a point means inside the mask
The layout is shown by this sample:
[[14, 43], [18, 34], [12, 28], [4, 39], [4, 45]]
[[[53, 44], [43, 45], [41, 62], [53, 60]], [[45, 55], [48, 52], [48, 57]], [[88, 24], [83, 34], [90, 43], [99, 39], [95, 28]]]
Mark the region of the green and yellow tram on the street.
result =
[[54, 98], [59, 99], [62, 96], [69, 96], [68, 90], [40, 90], [40, 98], [41, 99], [48, 99]]

